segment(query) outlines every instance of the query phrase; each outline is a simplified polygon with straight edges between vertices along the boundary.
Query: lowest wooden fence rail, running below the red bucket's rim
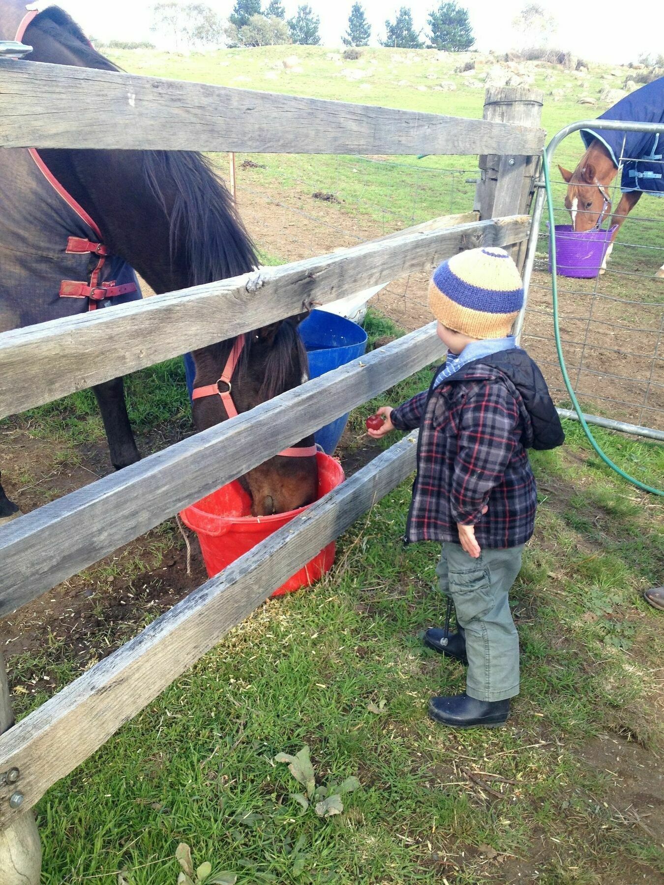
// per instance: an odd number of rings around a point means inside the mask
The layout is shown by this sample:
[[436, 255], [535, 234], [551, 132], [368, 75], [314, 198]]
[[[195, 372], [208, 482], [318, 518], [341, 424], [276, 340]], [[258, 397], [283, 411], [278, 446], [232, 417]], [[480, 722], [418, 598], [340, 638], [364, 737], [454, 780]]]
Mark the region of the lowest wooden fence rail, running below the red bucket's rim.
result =
[[[0, 736], [0, 827], [31, 808], [375, 502], [413, 472], [416, 436], [355, 473]], [[0, 781], [2, 779], [0, 778]], [[23, 797], [20, 812], [9, 797]]]

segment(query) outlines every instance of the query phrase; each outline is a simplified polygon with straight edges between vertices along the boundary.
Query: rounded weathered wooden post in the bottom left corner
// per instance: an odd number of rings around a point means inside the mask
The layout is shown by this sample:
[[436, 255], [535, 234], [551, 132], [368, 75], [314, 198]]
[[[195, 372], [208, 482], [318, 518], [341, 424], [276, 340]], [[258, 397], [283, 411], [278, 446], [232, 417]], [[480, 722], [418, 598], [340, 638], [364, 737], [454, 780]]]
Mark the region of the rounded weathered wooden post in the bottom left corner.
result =
[[[0, 652], [0, 735], [14, 724], [4, 658]], [[18, 768], [0, 772], [0, 781], [16, 785], [10, 798], [19, 808], [23, 800]], [[0, 882], [2, 885], [39, 885], [42, 875], [42, 843], [32, 811], [19, 815], [11, 827], [0, 830]]]

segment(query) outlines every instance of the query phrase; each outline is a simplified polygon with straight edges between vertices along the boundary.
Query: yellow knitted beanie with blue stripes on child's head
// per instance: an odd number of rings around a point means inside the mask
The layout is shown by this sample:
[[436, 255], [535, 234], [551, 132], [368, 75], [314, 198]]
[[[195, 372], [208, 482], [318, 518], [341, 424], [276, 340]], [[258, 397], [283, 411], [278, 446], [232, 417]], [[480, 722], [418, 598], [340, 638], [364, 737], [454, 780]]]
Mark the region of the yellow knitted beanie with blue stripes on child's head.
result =
[[504, 338], [523, 306], [523, 283], [503, 249], [469, 249], [436, 267], [429, 308], [444, 326], [471, 338]]

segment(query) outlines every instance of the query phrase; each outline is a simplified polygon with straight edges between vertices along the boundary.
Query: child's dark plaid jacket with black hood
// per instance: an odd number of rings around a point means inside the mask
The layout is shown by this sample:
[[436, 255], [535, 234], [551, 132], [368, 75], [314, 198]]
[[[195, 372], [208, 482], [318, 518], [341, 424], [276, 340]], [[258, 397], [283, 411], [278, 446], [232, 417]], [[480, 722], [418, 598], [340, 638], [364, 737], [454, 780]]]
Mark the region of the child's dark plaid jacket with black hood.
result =
[[475, 526], [481, 547], [529, 540], [537, 489], [526, 449], [553, 449], [565, 435], [525, 350], [468, 363], [398, 406], [391, 420], [400, 430], [420, 427], [407, 541], [459, 543], [459, 522]]

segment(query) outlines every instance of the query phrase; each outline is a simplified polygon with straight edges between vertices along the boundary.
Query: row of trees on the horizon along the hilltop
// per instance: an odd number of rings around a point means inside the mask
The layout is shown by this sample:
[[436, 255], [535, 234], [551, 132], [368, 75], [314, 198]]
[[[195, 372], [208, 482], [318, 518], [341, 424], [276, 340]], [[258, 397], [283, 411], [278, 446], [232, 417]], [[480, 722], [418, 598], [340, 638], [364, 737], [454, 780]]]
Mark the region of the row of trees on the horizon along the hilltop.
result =
[[[429, 12], [427, 31], [415, 31], [410, 7], [402, 6], [393, 21], [385, 21], [382, 46], [394, 49], [436, 49], [460, 52], [475, 43], [468, 11], [454, 0], [441, 3]], [[206, 4], [183, 4], [178, 0], [158, 3], [152, 9], [153, 31], [181, 44], [230, 46], [270, 46], [299, 43], [317, 46], [320, 43], [320, 16], [308, 4], [297, 7], [296, 14], [286, 19], [280, 0], [269, 0], [262, 8], [261, 0], [235, 0], [228, 22]], [[345, 46], [368, 46], [371, 24], [362, 4], [352, 4], [348, 27], [342, 36]]]

